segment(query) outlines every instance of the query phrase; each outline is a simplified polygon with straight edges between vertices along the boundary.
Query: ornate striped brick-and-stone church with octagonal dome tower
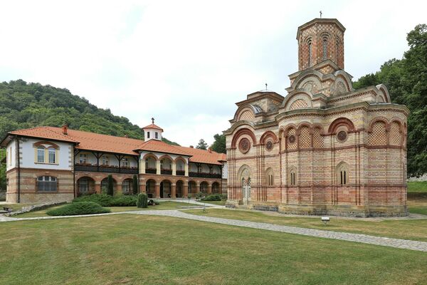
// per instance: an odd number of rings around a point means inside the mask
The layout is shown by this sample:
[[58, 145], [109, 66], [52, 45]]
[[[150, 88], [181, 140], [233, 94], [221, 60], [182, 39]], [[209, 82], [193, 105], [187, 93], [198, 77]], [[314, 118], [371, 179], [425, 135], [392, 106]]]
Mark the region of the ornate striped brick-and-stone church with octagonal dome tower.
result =
[[289, 214], [405, 216], [406, 121], [380, 84], [355, 90], [344, 71], [344, 26], [297, 29], [298, 71], [283, 96], [236, 103], [226, 135], [227, 207]]

